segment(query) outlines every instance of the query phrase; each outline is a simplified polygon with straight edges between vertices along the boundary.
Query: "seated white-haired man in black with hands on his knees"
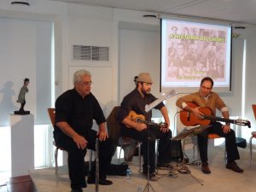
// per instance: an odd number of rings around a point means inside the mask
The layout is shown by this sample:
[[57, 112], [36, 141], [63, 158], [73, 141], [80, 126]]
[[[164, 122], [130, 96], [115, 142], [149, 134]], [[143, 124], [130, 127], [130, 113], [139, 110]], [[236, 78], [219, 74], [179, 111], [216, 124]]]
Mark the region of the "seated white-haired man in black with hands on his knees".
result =
[[[55, 143], [68, 153], [68, 171], [72, 192], [83, 192], [84, 156], [86, 148], [96, 149], [99, 138], [99, 184], [109, 185], [106, 173], [113, 155], [113, 144], [108, 139], [106, 119], [96, 97], [90, 92], [91, 75], [79, 70], [73, 76], [74, 88], [67, 90], [55, 102]], [[93, 119], [99, 131], [91, 129]], [[96, 167], [92, 167], [88, 183], [96, 183]]]

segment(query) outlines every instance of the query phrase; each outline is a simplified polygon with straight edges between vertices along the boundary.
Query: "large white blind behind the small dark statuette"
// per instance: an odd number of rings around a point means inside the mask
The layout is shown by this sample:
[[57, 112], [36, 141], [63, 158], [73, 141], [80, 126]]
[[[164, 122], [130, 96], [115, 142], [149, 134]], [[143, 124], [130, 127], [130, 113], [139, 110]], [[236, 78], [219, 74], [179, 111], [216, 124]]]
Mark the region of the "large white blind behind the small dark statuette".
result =
[[20, 108], [16, 102], [29, 78], [25, 110], [34, 114], [35, 124], [49, 123], [51, 27], [47, 21], [0, 17], [0, 126], [9, 125], [9, 113]]

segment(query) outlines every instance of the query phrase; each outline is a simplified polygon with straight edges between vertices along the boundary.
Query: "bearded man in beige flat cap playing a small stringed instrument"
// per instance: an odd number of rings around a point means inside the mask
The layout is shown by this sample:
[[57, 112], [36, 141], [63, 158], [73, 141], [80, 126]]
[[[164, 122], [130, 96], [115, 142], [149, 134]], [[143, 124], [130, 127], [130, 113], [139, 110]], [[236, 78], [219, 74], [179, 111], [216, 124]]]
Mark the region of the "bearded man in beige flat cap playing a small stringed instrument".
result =
[[[169, 130], [170, 120], [167, 108], [160, 102], [155, 109], [160, 110], [165, 126], [146, 125], [137, 123], [131, 118], [131, 112], [143, 115], [146, 121], [151, 122], [152, 111], [145, 112], [145, 106], [154, 102], [157, 98], [150, 94], [152, 80], [149, 73], [139, 73], [134, 79], [136, 88], [126, 95], [121, 102], [121, 107], [117, 114], [117, 119], [121, 123], [121, 135], [131, 137], [143, 143], [143, 174], [148, 175], [149, 158], [149, 179], [157, 181], [159, 177], [155, 175], [155, 139], [160, 139], [159, 160], [161, 163], [170, 162], [168, 148], [170, 148], [172, 132]], [[149, 138], [149, 139], [148, 139]], [[168, 156], [169, 155], [169, 156]]]

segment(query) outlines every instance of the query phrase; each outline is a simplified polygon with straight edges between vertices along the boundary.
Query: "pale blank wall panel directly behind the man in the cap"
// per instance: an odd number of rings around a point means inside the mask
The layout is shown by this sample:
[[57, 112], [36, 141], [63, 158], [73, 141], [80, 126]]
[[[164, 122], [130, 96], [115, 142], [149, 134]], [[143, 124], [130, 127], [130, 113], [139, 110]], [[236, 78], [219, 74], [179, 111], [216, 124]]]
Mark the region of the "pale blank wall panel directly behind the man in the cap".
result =
[[160, 32], [119, 29], [119, 101], [135, 88], [134, 77], [150, 72], [152, 93], [160, 90]]

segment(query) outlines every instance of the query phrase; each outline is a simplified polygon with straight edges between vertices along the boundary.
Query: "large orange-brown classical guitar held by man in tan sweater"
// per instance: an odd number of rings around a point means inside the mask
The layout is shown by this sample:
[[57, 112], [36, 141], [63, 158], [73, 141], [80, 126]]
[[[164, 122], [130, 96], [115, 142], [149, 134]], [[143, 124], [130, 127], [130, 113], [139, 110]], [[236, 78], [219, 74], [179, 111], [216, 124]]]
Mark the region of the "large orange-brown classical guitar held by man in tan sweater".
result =
[[[198, 108], [195, 102], [187, 102], [190, 108]], [[243, 119], [224, 119], [221, 117], [212, 116], [212, 109], [208, 107], [199, 108], [201, 113], [204, 113], [202, 119], [199, 119], [195, 116], [194, 113], [188, 111], [180, 111], [180, 120], [183, 125], [186, 126], [195, 126], [195, 125], [209, 125], [211, 121], [221, 121], [230, 124], [243, 125], [251, 128], [251, 122]]]

